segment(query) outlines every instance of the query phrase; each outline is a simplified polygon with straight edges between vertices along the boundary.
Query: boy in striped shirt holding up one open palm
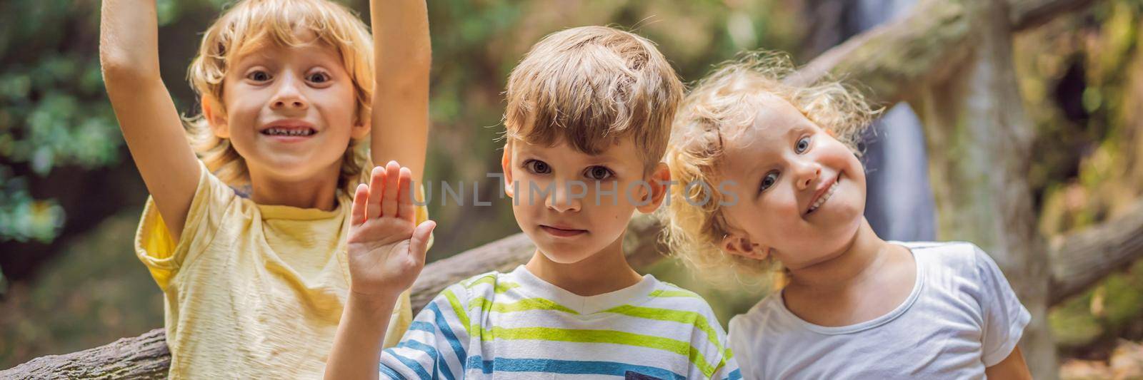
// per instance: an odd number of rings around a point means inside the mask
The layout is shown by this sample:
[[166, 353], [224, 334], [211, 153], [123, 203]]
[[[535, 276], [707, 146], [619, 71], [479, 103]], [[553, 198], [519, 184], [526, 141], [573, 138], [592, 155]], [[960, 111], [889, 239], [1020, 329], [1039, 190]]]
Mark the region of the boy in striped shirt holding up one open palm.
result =
[[326, 377], [741, 378], [706, 301], [623, 254], [634, 211], [666, 194], [661, 160], [681, 97], [670, 64], [633, 33], [576, 27], [534, 46], [509, 78], [502, 159], [531, 260], [447, 288], [381, 353], [381, 316], [423, 267], [431, 229], [401, 212], [407, 176], [390, 164], [357, 194], [367, 211], [351, 226], [351, 296]]

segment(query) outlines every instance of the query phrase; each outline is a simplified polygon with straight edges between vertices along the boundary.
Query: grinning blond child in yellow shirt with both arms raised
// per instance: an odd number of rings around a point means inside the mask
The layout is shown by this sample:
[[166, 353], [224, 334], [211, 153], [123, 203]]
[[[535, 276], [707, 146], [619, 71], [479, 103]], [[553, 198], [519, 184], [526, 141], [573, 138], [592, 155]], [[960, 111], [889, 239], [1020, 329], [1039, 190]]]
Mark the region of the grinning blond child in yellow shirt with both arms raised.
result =
[[[159, 76], [154, 0], [103, 1], [99, 58], [151, 193], [136, 252], [166, 296], [171, 378], [323, 370], [347, 292], [351, 193], [374, 162], [424, 168], [425, 3], [387, 6], [374, 41], [328, 0], [233, 5], [191, 64], [201, 115], [184, 130]], [[394, 339], [409, 320], [406, 293]]]

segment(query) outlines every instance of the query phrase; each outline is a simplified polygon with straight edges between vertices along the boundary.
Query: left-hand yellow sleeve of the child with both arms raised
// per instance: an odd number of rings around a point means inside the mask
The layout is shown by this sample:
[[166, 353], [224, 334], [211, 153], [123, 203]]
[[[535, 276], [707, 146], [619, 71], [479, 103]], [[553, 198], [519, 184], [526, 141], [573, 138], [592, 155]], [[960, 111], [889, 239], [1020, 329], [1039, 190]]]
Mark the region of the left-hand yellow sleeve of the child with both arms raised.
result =
[[215, 232], [222, 225], [223, 215], [238, 196], [221, 179], [210, 173], [199, 161], [199, 181], [186, 210], [186, 221], [176, 242], [159, 215], [153, 197], [147, 197], [143, 218], [135, 233], [135, 254], [151, 272], [151, 277], [163, 291], [170, 285], [178, 268], [193, 256], [210, 245]]

